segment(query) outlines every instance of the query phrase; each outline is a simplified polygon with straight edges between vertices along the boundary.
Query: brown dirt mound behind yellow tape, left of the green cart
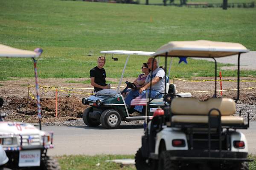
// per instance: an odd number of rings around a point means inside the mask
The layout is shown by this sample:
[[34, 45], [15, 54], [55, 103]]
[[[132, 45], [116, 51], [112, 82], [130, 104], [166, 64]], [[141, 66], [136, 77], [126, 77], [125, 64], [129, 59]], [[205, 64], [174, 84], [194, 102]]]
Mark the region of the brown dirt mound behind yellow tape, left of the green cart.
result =
[[[75, 96], [60, 97], [57, 102], [57, 117], [55, 98], [41, 98], [41, 115], [43, 122], [67, 121], [82, 118], [85, 106], [81, 103], [81, 99]], [[7, 97], [2, 108], [9, 110], [6, 120], [26, 121], [31, 123], [38, 122], [37, 119], [37, 103], [36, 100], [30, 100], [26, 103], [26, 98], [16, 96]], [[10, 112], [11, 111], [11, 112]]]

